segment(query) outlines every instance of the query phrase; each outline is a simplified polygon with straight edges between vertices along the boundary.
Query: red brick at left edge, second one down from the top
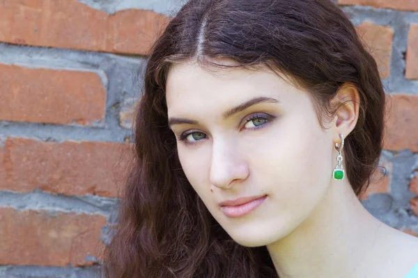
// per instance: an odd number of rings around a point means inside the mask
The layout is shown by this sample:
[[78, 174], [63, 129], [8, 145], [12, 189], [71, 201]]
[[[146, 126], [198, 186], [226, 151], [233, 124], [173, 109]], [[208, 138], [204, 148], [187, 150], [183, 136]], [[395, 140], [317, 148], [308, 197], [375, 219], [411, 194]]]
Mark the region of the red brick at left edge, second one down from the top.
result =
[[104, 121], [106, 90], [98, 74], [3, 64], [0, 72], [0, 120], [86, 126]]

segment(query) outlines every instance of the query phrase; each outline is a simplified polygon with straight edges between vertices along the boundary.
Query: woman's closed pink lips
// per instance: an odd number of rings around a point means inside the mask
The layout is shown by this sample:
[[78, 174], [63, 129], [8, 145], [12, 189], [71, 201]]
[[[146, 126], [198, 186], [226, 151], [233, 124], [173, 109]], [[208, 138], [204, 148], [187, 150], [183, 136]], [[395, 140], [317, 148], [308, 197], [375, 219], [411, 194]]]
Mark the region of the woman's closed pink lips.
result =
[[224, 214], [230, 218], [237, 218], [247, 215], [263, 204], [267, 195], [262, 197], [247, 197], [233, 201], [226, 201], [219, 204]]

